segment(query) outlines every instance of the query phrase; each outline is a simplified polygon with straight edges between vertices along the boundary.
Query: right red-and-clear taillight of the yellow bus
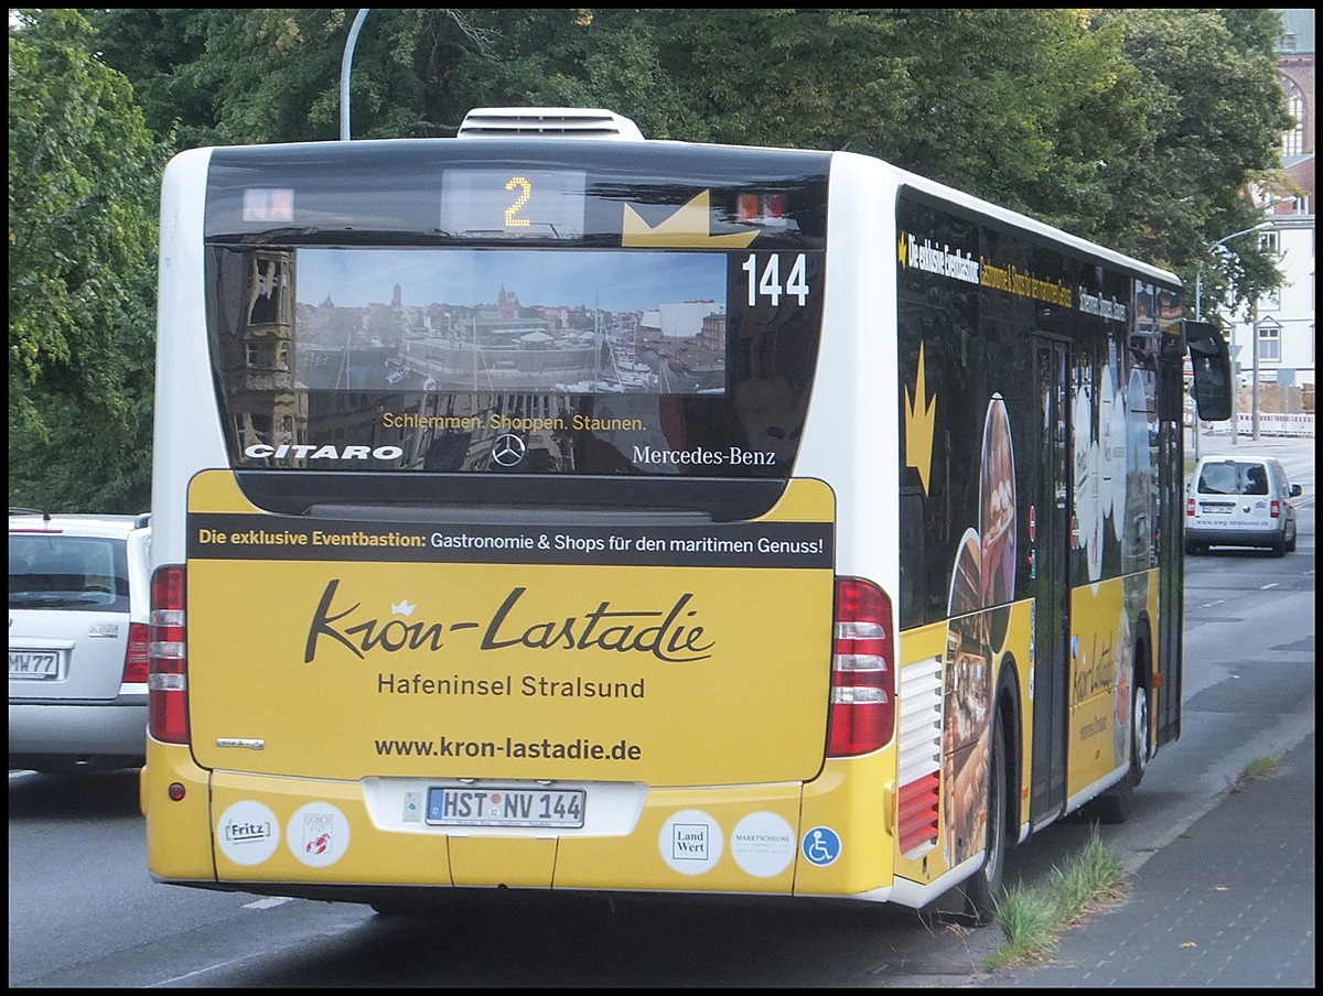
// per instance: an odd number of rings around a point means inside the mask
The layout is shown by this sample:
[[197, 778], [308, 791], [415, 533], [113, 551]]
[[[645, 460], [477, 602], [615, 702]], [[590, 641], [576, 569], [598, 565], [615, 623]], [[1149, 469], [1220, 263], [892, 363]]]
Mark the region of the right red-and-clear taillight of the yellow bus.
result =
[[831, 667], [827, 755], [877, 750], [896, 726], [892, 601], [861, 578], [836, 579], [836, 645]]

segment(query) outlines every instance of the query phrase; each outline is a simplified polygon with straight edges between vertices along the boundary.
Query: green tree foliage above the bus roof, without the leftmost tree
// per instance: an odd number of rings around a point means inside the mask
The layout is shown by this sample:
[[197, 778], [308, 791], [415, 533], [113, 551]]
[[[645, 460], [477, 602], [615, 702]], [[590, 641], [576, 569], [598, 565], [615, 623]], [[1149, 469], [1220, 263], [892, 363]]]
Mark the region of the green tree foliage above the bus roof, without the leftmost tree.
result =
[[[352, 9], [86, 13], [160, 135], [339, 136]], [[1275, 167], [1279, 33], [1270, 9], [373, 9], [349, 112], [352, 138], [586, 104], [650, 138], [849, 148], [1191, 276]], [[1242, 250], [1240, 298], [1274, 276]]]

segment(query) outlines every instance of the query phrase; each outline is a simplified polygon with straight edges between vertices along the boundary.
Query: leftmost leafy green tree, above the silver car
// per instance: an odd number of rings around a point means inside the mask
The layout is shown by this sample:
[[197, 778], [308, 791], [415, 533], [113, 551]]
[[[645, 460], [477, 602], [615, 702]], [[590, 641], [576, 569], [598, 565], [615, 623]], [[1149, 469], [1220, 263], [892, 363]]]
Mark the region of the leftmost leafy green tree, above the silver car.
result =
[[9, 501], [149, 497], [161, 153], [83, 17], [9, 28]]

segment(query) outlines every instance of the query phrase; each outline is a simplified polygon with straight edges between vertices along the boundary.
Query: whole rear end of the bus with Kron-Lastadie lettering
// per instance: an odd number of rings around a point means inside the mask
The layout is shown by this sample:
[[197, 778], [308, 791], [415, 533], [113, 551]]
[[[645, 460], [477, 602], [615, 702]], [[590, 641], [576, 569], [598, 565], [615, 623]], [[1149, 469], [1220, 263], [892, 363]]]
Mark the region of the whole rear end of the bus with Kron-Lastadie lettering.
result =
[[828, 161], [172, 163], [153, 877], [885, 895], [886, 794], [844, 772], [894, 765], [892, 607], [837, 578], [832, 488], [794, 472]]

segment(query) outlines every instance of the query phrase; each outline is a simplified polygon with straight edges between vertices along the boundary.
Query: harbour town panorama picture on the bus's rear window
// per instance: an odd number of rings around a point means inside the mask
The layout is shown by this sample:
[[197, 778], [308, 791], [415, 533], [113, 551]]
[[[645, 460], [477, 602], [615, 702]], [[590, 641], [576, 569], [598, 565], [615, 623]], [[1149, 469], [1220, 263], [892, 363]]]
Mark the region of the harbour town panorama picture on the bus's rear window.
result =
[[724, 394], [720, 253], [304, 249], [303, 390]]

